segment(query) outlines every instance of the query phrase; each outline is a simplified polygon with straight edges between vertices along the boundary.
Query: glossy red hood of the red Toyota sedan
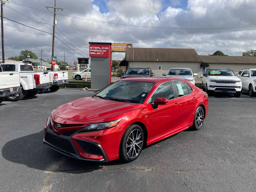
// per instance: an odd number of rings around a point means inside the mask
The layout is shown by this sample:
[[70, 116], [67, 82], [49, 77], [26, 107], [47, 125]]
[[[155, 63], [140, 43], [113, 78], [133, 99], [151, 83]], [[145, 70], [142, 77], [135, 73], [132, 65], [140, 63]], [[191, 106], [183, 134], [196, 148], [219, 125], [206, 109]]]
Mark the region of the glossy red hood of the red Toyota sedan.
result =
[[134, 110], [138, 104], [85, 97], [64, 104], [53, 114], [64, 119], [80, 122], [106, 122]]

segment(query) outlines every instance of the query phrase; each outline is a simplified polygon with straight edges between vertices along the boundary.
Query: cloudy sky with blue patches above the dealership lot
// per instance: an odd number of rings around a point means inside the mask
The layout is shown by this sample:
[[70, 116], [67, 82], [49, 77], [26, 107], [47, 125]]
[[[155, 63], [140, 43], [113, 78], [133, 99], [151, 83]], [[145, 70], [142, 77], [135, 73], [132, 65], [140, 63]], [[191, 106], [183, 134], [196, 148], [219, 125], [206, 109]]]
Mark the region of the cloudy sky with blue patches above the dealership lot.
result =
[[[6, 58], [31, 50], [52, 55], [54, 0], [10, 0], [4, 17]], [[132, 43], [143, 48], [194, 48], [198, 54], [241, 56], [256, 49], [255, 0], [57, 0], [55, 56], [88, 57], [88, 42]], [[73, 49], [73, 50], [71, 50]], [[113, 53], [113, 57], [123, 57]], [[2, 55], [1, 55], [2, 57]]]

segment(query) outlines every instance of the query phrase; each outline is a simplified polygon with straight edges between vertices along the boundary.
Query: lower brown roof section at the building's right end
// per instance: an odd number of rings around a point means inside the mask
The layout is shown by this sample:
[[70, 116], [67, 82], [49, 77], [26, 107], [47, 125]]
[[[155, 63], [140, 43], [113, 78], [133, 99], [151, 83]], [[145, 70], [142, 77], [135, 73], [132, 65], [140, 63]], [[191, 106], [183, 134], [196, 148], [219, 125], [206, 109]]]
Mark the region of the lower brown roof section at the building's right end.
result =
[[249, 56], [199, 56], [203, 63], [256, 64], [256, 57]]

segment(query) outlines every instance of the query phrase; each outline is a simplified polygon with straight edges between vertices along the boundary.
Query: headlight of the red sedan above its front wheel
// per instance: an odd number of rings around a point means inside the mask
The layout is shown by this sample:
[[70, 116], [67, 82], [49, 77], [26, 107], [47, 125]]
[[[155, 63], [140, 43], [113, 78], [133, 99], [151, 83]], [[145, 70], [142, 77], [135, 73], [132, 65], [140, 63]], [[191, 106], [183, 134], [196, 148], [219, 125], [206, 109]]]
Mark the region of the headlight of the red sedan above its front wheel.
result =
[[121, 119], [110, 121], [110, 122], [104, 122], [104, 123], [91, 123], [85, 128], [83, 128], [82, 130], [80, 130], [78, 133], [112, 128], [116, 126], [120, 122], [120, 120]]

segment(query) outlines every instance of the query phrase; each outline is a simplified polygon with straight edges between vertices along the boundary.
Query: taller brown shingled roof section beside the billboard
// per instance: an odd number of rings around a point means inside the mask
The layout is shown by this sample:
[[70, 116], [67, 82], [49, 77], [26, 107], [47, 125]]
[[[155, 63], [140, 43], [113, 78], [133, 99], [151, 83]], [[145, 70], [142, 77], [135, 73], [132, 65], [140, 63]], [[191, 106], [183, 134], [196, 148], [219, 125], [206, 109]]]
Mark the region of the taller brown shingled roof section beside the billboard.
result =
[[165, 62], [202, 62], [194, 49], [175, 48], [126, 48], [126, 60]]

